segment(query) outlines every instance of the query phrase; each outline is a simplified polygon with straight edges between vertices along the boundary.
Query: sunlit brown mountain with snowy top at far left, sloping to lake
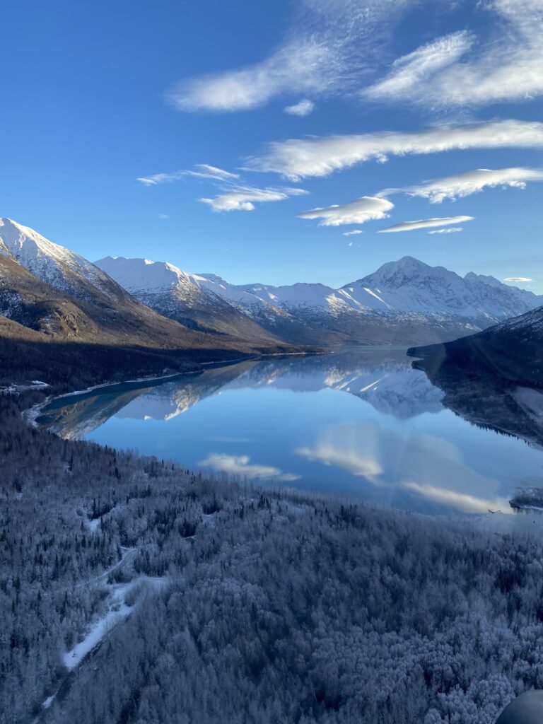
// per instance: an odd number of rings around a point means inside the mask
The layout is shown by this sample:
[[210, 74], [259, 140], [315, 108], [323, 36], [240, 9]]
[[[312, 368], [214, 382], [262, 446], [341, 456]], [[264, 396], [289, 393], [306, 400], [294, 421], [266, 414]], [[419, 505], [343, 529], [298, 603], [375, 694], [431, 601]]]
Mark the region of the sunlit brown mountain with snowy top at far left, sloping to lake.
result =
[[206, 334], [162, 316], [98, 266], [11, 219], [0, 220], [0, 314], [57, 341], [207, 350], [211, 358], [215, 350], [292, 350], [264, 331], [230, 325], [221, 335]]

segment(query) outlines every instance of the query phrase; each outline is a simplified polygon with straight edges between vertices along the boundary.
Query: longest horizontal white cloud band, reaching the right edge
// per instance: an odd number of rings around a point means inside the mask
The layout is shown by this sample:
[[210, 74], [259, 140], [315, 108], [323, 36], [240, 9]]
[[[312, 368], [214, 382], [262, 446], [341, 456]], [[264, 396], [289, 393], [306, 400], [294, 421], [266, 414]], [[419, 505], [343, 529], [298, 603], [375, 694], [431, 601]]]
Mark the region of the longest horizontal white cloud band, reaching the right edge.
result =
[[543, 148], [543, 123], [508, 120], [440, 126], [413, 133], [291, 138], [269, 144], [264, 155], [248, 159], [246, 166], [253, 171], [275, 172], [298, 180], [308, 176], [327, 176], [372, 159], [386, 161], [388, 156], [467, 148]]

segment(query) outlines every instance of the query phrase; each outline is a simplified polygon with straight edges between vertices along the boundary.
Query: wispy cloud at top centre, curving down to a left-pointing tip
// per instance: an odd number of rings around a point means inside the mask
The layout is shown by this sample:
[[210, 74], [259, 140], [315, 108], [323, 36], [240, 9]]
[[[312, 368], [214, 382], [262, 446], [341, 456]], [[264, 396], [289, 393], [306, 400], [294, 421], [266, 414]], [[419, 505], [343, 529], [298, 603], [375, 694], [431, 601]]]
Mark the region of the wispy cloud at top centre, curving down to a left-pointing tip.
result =
[[[282, 43], [260, 62], [182, 80], [167, 93], [181, 111], [231, 112], [281, 96], [333, 96], [360, 85], [384, 28], [416, 0], [300, 0]], [[311, 101], [309, 101], [311, 102]]]

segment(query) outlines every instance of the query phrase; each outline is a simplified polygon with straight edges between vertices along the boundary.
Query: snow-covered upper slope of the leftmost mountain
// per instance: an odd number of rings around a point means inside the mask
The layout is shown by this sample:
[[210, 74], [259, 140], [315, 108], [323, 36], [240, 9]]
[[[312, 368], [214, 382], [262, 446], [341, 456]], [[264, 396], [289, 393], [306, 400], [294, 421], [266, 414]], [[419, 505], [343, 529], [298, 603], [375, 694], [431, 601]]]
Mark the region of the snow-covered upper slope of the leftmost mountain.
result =
[[122, 294], [95, 264], [12, 219], [0, 219], [0, 253], [42, 282], [80, 299], [91, 300], [95, 290], [106, 297]]

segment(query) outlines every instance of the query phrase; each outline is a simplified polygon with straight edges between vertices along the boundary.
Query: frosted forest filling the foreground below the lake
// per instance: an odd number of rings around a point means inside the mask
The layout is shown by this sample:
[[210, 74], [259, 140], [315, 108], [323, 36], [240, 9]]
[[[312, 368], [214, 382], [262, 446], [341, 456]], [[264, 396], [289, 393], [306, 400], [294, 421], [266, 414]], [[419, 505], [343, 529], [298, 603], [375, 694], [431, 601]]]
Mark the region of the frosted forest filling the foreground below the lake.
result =
[[0, 720], [494, 724], [543, 545], [68, 442], [0, 396]]

